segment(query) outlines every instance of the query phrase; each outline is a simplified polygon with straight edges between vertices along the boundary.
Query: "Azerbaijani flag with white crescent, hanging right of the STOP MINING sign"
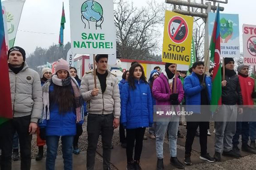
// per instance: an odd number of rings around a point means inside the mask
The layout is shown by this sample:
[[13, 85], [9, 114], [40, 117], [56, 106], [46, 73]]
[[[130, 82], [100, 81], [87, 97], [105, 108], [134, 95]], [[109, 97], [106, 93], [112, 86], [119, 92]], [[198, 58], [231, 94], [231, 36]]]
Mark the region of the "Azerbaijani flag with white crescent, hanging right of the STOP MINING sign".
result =
[[220, 65], [220, 9], [217, 8], [210, 43], [211, 61], [214, 63], [212, 76], [211, 111], [215, 112], [221, 105], [221, 65]]

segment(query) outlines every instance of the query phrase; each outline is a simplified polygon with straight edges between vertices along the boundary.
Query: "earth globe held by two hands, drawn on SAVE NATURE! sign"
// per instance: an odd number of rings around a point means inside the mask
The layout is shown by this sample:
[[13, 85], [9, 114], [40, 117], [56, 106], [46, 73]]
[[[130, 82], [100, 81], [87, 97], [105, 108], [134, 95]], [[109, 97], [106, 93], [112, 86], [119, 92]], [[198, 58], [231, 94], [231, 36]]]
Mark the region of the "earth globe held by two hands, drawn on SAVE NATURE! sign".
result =
[[103, 8], [101, 4], [93, 0], [85, 1], [81, 7], [81, 13], [81, 19], [85, 24], [84, 28], [88, 24], [88, 28], [90, 29], [90, 22], [95, 22], [96, 29], [101, 28], [103, 22]]

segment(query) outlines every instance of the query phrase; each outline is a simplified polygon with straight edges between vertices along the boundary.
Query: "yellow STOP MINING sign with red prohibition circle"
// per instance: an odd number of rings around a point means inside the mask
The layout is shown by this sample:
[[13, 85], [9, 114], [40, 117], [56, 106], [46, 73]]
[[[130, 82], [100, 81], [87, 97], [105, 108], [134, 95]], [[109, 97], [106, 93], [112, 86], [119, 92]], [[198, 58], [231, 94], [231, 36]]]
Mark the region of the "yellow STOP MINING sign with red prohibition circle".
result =
[[162, 61], [190, 64], [193, 17], [165, 11]]

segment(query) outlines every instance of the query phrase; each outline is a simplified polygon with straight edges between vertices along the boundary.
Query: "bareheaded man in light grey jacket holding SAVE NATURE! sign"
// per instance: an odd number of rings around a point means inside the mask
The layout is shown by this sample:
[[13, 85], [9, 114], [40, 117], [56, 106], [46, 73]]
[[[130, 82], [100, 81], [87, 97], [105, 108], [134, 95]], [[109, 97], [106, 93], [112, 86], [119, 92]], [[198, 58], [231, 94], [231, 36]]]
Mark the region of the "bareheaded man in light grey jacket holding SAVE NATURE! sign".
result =
[[95, 57], [96, 85], [94, 87], [93, 71], [87, 72], [81, 82], [83, 99], [87, 102], [88, 148], [87, 170], [93, 170], [95, 152], [101, 132], [103, 144], [103, 170], [110, 169], [111, 141], [113, 131], [119, 126], [120, 94], [115, 74], [107, 70], [108, 55], [98, 54]]

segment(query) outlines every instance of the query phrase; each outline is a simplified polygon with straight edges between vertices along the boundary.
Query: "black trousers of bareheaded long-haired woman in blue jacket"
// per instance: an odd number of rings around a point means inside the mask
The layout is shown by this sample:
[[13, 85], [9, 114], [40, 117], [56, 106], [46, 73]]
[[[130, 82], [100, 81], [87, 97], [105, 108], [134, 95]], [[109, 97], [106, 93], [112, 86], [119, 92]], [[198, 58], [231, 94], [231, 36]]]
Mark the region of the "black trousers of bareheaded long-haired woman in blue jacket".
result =
[[134, 141], [136, 141], [135, 144], [135, 153], [134, 153], [134, 160], [140, 160], [140, 155], [143, 147], [143, 137], [145, 133], [146, 128], [137, 128], [137, 129], [126, 129], [126, 140], [127, 140], [127, 146], [126, 146], [126, 156], [127, 156], [127, 162], [132, 161], [132, 155], [133, 155], [133, 148], [134, 148]]

